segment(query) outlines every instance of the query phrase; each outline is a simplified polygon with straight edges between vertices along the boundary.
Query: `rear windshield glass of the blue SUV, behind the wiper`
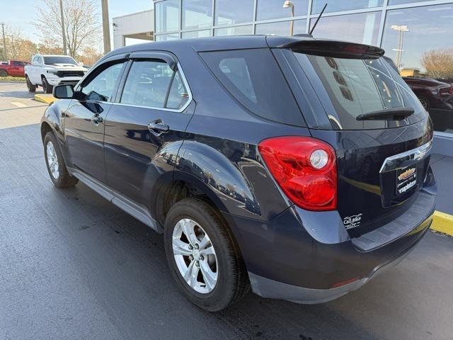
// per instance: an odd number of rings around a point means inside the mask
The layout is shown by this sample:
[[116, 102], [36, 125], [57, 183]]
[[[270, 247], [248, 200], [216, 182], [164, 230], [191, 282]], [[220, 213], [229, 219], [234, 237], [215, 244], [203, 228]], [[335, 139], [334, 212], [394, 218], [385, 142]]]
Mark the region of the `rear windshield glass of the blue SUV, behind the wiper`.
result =
[[[384, 58], [374, 60], [321, 57], [294, 52], [299, 64], [313, 67], [335, 109], [328, 113], [334, 129], [393, 128], [426, 117], [407, 84]], [[308, 62], [306, 62], [308, 60]], [[358, 115], [389, 108], [411, 107], [405, 120], [356, 120]]]

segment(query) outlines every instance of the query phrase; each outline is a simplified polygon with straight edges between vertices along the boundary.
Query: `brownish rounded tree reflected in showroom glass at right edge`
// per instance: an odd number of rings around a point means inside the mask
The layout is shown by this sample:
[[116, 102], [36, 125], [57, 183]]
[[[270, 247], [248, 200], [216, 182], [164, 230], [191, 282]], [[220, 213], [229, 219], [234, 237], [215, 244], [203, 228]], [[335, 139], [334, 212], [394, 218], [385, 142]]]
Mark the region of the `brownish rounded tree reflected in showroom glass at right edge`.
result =
[[431, 50], [423, 53], [421, 62], [429, 77], [453, 78], [453, 48]]

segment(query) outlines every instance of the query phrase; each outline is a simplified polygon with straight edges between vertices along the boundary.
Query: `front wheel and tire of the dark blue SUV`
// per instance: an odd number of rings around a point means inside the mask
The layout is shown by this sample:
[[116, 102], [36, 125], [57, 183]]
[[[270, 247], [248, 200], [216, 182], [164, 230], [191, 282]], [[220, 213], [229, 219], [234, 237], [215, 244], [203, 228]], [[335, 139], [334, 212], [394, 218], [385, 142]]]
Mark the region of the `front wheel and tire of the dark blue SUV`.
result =
[[57, 188], [70, 188], [79, 182], [78, 179], [69, 175], [53, 132], [47, 132], [44, 137], [44, 156], [50, 179]]

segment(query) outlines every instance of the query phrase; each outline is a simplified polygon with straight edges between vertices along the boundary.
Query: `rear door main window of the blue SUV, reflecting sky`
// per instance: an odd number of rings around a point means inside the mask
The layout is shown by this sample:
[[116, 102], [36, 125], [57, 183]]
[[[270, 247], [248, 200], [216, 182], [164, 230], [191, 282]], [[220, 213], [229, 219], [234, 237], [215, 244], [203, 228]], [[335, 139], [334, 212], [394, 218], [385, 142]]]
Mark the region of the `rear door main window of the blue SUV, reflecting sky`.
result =
[[122, 91], [121, 103], [164, 108], [173, 70], [163, 61], [134, 62]]

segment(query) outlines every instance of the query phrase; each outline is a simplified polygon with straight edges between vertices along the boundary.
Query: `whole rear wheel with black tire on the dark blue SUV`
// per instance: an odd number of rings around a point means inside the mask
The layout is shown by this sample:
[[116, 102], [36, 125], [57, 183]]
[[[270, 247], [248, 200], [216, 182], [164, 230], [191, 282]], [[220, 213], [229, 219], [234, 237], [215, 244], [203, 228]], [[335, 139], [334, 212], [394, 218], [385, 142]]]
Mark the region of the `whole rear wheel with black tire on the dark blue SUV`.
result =
[[173, 205], [164, 243], [173, 278], [203, 310], [223, 310], [248, 293], [248, 275], [231, 233], [205, 201], [185, 198]]

